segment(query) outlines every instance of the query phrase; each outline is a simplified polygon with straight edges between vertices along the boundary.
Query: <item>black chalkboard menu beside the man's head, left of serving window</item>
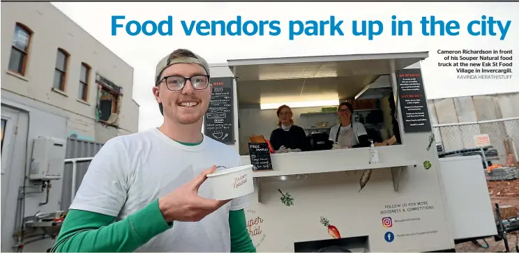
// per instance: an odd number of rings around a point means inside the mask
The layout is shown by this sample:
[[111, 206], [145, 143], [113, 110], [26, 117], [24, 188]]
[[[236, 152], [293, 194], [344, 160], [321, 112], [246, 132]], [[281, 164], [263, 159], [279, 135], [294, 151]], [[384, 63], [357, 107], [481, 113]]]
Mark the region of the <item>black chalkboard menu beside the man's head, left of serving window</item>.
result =
[[232, 77], [211, 77], [213, 93], [204, 116], [204, 134], [225, 144], [234, 144]]

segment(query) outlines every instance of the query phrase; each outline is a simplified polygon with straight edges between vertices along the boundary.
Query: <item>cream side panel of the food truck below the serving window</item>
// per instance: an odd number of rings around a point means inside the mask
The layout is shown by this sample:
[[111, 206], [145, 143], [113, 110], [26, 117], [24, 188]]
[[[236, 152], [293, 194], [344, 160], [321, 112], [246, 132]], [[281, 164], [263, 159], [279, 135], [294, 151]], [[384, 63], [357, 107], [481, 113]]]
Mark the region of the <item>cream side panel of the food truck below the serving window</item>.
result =
[[[262, 220], [261, 224], [250, 226], [251, 231], [261, 231], [252, 236], [257, 251], [293, 252], [295, 242], [331, 239], [326, 227], [319, 222], [320, 216], [326, 217], [331, 225], [336, 226], [342, 238], [369, 236], [371, 252], [425, 252], [453, 247], [453, 238], [446, 221], [442, 185], [438, 178], [439, 162], [435, 158], [434, 148], [425, 151], [426, 138], [423, 137], [407, 135], [408, 146], [379, 148], [381, 162], [416, 160], [419, 163], [416, 167], [407, 167], [398, 192], [393, 191], [391, 169], [374, 169], [372, 178], [361, 192], [361, 170], [322, 174], [308, 172], [367, 167], [367, 148], [272, 155], [276, 172], [299, 169], [301, 175], [299, 179], [292, 177], [289, 181], [279, 181], [280, 177], [261, 179], [261, 203], [257, 202], [257, 192], [250, 195], [252, 204], [246, 211], [248, 224], [254, 224], [257, 217]], [[424, 169], [421, 164], [423, 160], [430, 160], [433, 167]], [[246, 156], [243, 156], [242, 161], [250, 163]], [[273, 181], [276, 179], [278, 181]], [[277, 189], [289, 192], [294, 198], [294, 206], [284, 206]], [[426, 206], [433, 208], [396, 214], [381, 213], [386, 210], [386, 205], [419, 201], [427, 201]], [[391, 217], [393, 227], [382, 226], [384, 217]], [[407, 219], [419, 220], [398, 222]], [[387, 231], [395, 235], [434, 233], [398, 237], [392, 243], [387, 243], [384, 240]]]

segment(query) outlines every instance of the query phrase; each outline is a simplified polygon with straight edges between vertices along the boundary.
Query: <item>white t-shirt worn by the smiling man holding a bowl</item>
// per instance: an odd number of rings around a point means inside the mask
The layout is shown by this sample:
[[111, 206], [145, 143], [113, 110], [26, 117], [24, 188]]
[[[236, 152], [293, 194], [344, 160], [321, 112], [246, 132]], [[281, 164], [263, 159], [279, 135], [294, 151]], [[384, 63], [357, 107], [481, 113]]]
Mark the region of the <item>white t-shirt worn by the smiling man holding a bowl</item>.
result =
[[[204, 136], [186, 146], [158, 129], [115, 137], [93, 158], [70, 209], [117, 216], [121, 220], [191, 181], [204, 169], [241, 165], [239, 153]], [[198, 194], [211, 199], [210, 181]], [[229, 211], [248, 206], [233, 199], [200, 222], [174, 222], [172, 229], [149, 240], [137, 252], [230, 252]]]

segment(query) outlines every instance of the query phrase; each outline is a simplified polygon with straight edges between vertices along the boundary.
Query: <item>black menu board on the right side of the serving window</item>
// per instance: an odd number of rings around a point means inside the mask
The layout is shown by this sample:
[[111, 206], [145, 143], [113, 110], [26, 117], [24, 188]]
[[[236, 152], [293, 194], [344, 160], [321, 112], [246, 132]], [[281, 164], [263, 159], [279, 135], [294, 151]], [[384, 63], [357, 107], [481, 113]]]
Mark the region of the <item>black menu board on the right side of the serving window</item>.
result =
[[398, 101], [405, 132], [430, 132], [429, 110], [419, 68], [398, 70]]

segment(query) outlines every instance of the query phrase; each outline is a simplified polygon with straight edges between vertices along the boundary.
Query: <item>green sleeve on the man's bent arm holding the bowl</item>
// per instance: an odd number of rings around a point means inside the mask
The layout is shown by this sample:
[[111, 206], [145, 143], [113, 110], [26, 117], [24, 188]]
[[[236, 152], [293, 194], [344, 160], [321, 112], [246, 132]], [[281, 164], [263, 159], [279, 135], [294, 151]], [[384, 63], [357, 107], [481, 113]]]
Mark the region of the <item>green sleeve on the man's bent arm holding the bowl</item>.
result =
[[158, 199], [124, 220], [114, 220], [110, 215], [70, 210], [51, 252], [133, 252], [173, 225], [165, 222]]

